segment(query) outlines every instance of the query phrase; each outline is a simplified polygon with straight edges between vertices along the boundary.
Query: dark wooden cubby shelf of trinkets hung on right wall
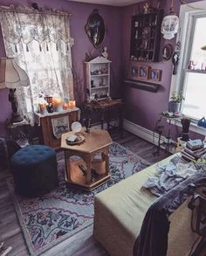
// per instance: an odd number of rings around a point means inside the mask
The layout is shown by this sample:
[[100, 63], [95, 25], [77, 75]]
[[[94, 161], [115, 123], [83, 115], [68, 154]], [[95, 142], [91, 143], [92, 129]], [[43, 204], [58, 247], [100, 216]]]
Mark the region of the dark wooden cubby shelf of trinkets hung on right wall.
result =
[[132, 17], [130, 59], [158, 61], [163, 10], [153, 10]]

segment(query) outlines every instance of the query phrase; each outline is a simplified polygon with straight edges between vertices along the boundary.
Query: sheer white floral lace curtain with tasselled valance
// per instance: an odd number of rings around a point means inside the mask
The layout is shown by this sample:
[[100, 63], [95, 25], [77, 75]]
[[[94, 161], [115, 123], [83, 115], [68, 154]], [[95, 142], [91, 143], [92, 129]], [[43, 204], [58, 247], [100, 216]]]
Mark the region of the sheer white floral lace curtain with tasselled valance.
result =
[[0, 9], [7, 57], [15, 58], [30, 78], [30, 86], [17, 86], [18, 110], [34, 121], [39, 93], [73, 98], [69, 14], [31, 9]]

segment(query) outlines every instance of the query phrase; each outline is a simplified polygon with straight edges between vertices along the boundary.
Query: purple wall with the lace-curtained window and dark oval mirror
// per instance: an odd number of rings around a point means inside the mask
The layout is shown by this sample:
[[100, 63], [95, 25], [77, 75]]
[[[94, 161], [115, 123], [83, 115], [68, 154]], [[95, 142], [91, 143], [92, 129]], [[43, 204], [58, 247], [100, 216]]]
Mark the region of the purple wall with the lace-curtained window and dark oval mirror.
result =
[[[31, 3], [33, 2], [38, 3], [38, 6], [42, 7], [43, 9], [52, 8], [57, 10], [65, 10], [72, 13], [71, 36], [74, 38], [74, 45], [72, 46], [72, 63], [73, 66], [75, 66], [80, 78], [84, 78], [85, 75], [85, 53], [88, 51], [93, 52], [93, 57], [97, 57], [100, 54], [100, 50], [94, 49], [85, 32], [85, 24], [88, 16], [94, 9], [99, 10], [100, 15], [104, 18], [107, 25], [106, 38], [100, 45], [100, 49], [102, 49], [102, 46], [106, 45], [108, 48], [109, 59], [112, 60], [111, 95], [113, 97], [120, 97], [120, 8], [100, 4], [68, 2], [65, 0], [13, 0], [10, 1], [10, 3], [8, 3], [6, 0], [0, 0], [0, 5], [14, 4], [17, 6], [18, 3], [21, 3], [31, 6]], [[5, 57], [2, 35], [0, 36], [0, 57]], [[3, 135], [3, 122], [6, 121], [7, 118], [10, 118], [10, 102], [7, 99], [8, 90], [0, 90], [0, 102], [1, 106], [3, 106], [0, 108], [0, 135]]]

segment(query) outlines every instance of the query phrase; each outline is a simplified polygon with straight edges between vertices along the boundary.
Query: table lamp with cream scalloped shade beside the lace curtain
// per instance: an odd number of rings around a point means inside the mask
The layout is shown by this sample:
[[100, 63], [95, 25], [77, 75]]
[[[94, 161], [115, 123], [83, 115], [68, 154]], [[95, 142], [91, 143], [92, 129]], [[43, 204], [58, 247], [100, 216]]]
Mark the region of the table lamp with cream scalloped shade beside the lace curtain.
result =
[[13, 58], [0, 58], [0, 89], [9, 88], [9, 101], [12, 114], [10, 122], [23, 121], [23, 116], [17, 111], [16, 88], [18, 86], [29, 86], [30, 80], [24, 70], [17, 65]]

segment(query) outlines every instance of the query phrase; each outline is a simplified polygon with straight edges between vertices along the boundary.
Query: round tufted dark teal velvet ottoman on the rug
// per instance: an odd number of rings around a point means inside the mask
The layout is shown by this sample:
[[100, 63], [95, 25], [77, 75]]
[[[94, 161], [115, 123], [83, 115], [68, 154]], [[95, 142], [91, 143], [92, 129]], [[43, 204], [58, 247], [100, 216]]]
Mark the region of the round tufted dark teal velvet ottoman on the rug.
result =
[[27, 146], [11, 157], [15, 190], [24, 197], [38, 197], [58, 185], [56, 151], [45, 145]]

